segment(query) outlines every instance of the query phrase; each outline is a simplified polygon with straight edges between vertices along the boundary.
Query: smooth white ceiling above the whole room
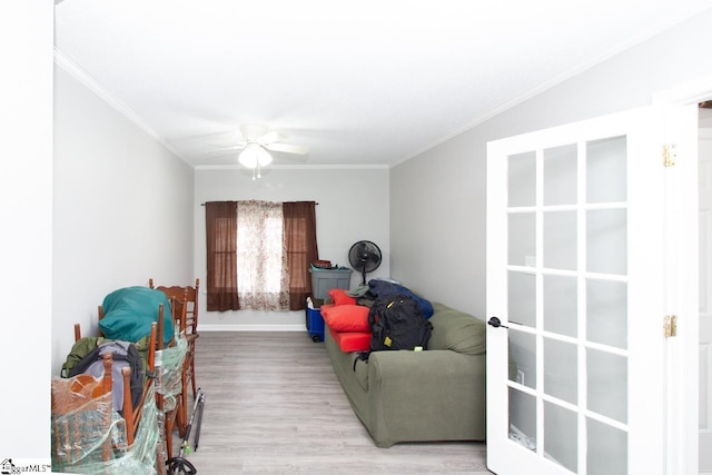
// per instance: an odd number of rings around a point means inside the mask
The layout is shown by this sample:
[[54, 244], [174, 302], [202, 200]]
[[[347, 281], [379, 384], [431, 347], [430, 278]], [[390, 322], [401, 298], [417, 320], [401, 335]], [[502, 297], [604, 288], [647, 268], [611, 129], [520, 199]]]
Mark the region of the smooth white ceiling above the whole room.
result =
[[[194, 166], [244, 122], [306, 161], [414, 157], [710, 0], [58, 0], [58, 58]], [[67, 67], [67, 66], [66, 66]]]

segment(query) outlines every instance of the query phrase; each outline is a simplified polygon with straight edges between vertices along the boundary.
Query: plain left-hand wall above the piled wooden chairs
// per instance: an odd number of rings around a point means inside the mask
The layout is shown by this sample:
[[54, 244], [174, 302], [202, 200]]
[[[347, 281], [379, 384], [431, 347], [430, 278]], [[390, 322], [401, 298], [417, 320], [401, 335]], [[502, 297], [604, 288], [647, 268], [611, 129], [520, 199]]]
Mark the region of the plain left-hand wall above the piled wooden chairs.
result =
[[192, 168], [62, 68], [55, 68], [52, 374], [73, 325], [97, 333], [112, 290], [187, 285]]

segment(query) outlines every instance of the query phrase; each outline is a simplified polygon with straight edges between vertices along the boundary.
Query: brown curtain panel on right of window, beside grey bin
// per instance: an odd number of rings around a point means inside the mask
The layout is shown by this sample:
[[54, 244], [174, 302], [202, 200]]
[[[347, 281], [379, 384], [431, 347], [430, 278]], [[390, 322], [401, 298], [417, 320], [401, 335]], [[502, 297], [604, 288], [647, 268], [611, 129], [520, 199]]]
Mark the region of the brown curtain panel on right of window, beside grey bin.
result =
[[289, 266], [289, 309], [303, 310], [312, 295], [309, 265], [318, 258], [316, 202], [283, 204], [285, 247]]

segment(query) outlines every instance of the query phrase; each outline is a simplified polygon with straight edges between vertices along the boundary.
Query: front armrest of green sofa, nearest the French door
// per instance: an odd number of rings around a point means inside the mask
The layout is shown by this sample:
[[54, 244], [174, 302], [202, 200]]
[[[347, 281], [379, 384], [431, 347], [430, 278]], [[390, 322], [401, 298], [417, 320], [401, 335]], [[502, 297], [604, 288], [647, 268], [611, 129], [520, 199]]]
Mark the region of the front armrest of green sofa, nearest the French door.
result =
[[[485, 438], [486, 357], [448, 349], [374, 352], [368, 358], [369, 428], [376, 445]], [[407, 435], [407, 438], [404, 438]]]

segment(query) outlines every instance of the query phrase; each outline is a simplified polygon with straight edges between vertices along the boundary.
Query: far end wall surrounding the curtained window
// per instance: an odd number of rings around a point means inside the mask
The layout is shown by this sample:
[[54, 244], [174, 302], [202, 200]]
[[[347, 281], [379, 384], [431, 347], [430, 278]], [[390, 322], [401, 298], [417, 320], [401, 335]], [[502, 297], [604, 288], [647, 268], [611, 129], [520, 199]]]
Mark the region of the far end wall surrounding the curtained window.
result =
[[[206, 283], [206, 201], [317, 201], [317, 244], [319, 258], [350, 267], [348, 249], [357, 240], [376, 243], [383, 253], [378, 269], [367, 275], [386, 277], [390, 273], [388, 245], [388, 169], [271, 169], [258, 180], [240, 169], [197, 169], [195, 194], [195, 269]], [[352, 286], [360, 284], [352, 275]], [[204, 284], [201, 284], [204, 287]], [[204, 287], [205, 288], [205, 287]], [[304, 311], [207, 311], [200, 295], [200, 328], [305, 330]]]

